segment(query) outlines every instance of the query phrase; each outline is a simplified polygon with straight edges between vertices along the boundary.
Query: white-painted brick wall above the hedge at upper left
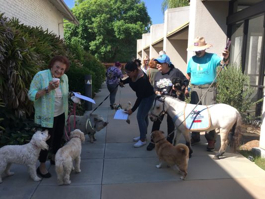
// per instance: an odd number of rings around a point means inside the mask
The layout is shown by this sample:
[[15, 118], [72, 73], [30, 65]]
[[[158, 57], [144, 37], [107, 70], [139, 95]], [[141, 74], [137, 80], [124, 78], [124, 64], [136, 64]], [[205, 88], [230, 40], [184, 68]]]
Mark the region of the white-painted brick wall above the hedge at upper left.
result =
[[[8, 18], [16, 17], [21, 23], [30, 26], [41, 26], [49, 32], [59, 35], [58, 24], [63, 22], [63, 15], [49, 0], [0, 0], [0, 12]], [[61, 38], [64, 36], [60, 24]]]

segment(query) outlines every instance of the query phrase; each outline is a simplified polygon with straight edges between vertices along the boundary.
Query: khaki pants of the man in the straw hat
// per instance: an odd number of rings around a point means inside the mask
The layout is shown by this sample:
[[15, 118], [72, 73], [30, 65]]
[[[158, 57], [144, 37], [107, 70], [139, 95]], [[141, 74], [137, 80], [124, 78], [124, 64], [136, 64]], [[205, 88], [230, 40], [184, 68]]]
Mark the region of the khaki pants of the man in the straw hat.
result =
[[[201, 97], [206, 93], [208, 88], [192, 88], [192, 92], [190, 95], [190, 103], [192, 104], [197, 104]], [[210, 104], [215, 104], [216, 102], [216, 88], [211, 87], [207, 94], [201, 99], [200, 105], [210, 105]], [[211, 130], [208, 132], [205, 132], [205, 138], [206, 140], [215, 140], [216, 133], [215, 130]], [[194, 140], [199, 140], [200, 139], [200, 133], [199, 132], [191, 132], [191, 138]]]

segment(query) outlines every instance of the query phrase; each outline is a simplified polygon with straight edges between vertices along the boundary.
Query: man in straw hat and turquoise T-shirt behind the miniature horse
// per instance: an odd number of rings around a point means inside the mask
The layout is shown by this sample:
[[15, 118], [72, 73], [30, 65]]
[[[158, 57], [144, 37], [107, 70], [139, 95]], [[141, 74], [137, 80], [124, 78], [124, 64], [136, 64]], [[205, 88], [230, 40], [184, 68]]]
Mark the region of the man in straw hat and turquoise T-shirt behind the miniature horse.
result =
[[[216, 103], [216, 67], [228, 62], [229, 51], [224, 49], [223, 57], [219, 57], [213, 53], [205, 52], [206, 49], [211, 48], [211, 44], [206, 44], [204, 37], [196, 37], [193, 45], [188, 46], [187, 51], [193, 51], [196, 55], [190, 58], [187, 65], [186, 78], [190, 80], [191, 94], [190, 103], [201, 105], [210, 105]], [[211, 83], [213, 85], [210, 87]], [[209, 90], [208, 90], [209, 88]], [[206, 91], [208, 90], [207, 94]], [[188, 94], [186, 87], [185, 95]], [[205, 95], [204, 95], [205, 94]], [[204, 96], [203, 96], [204, 95]], [[203, 98], [202, 98], [203, 97]], [[208, 142], [207, 151], [214, 151], [216, 133], [215, 130], [205, 132], [205, 138]], [[200, 133], [191, 132], [191, 145], [200, 142]]]

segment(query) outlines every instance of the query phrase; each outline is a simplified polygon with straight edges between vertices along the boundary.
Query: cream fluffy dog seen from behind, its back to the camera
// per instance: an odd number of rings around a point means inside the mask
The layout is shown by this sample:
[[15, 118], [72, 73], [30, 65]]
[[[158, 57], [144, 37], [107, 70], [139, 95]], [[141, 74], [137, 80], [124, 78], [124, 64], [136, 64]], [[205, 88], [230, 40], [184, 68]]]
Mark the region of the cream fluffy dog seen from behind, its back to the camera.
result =
[[[85, 142], [85, 135], [81, 130], [76, 129], [70, 133], [70, 141], [57, 151], [55, 155], [55, 171], [58, 185], [71, 184], [70, 173], [72, 170], [75, 169], [76, 173], [81, 172], [80, 155], [82, 142]], [[75, 168], [73, 161], [75, 161]]]

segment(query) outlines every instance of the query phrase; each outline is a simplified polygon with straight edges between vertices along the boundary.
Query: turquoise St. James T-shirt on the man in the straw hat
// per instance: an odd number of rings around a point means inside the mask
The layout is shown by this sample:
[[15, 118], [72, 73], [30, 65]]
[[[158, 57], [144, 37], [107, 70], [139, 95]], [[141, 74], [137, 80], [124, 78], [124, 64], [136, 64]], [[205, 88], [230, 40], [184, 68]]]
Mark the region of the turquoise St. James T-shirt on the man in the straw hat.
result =
[[191, 57], [187, 66], [190, 83], [194, 85], [211, 84], [216, 76], [216, 67], [220, 65], [221, 60], [221, 57], [213, 53], [205, 53], [203, 57]]

